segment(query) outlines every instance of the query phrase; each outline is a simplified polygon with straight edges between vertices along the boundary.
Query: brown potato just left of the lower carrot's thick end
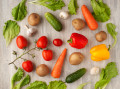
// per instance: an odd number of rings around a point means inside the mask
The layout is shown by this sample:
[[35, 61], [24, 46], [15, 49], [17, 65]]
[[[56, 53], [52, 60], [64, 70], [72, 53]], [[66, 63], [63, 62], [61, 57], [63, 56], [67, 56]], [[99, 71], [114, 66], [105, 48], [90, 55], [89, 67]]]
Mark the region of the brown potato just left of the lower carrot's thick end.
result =
[[49, 73], [49, 68], [45, 64], [41, 64], [36, 68], [36, 74], [41, 77], [48, 75], [48, 73]]

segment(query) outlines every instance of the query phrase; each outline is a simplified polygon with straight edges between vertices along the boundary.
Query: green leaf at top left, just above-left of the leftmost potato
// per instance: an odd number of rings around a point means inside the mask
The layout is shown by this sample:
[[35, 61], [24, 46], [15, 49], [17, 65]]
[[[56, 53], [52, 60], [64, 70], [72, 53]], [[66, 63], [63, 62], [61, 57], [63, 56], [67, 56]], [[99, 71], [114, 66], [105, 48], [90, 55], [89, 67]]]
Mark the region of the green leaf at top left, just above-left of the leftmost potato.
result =
[[12, 16], [14, 20], [21, 21], [27, 15], [27, 7], [25, 6], [26, 0], [22, 0], [16, 7], [12, 9]]

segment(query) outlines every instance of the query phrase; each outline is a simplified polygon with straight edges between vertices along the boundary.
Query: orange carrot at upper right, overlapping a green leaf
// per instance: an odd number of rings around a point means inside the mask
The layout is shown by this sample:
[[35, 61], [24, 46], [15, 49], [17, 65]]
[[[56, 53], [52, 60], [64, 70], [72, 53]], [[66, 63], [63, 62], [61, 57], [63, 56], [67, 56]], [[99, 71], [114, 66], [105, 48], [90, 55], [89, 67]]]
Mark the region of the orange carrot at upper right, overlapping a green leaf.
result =
[[95, 18], [93, 17], [89, 9], [85, 5], [83, 5], [81, 9], [88, 27], [91, 30], [96, 30], [98, 28], [98, 23], [96, 22]]

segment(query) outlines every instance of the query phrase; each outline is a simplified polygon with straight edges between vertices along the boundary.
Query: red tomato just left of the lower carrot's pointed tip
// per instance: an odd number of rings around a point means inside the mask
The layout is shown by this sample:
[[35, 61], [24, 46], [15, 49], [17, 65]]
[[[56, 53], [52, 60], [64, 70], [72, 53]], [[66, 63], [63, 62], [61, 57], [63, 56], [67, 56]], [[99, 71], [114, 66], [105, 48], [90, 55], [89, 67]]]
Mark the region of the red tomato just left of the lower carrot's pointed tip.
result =
[[52, 50], [43, 50], [42, 56], [46, 61], [50, 61], [53, 58], [53, 52]]

